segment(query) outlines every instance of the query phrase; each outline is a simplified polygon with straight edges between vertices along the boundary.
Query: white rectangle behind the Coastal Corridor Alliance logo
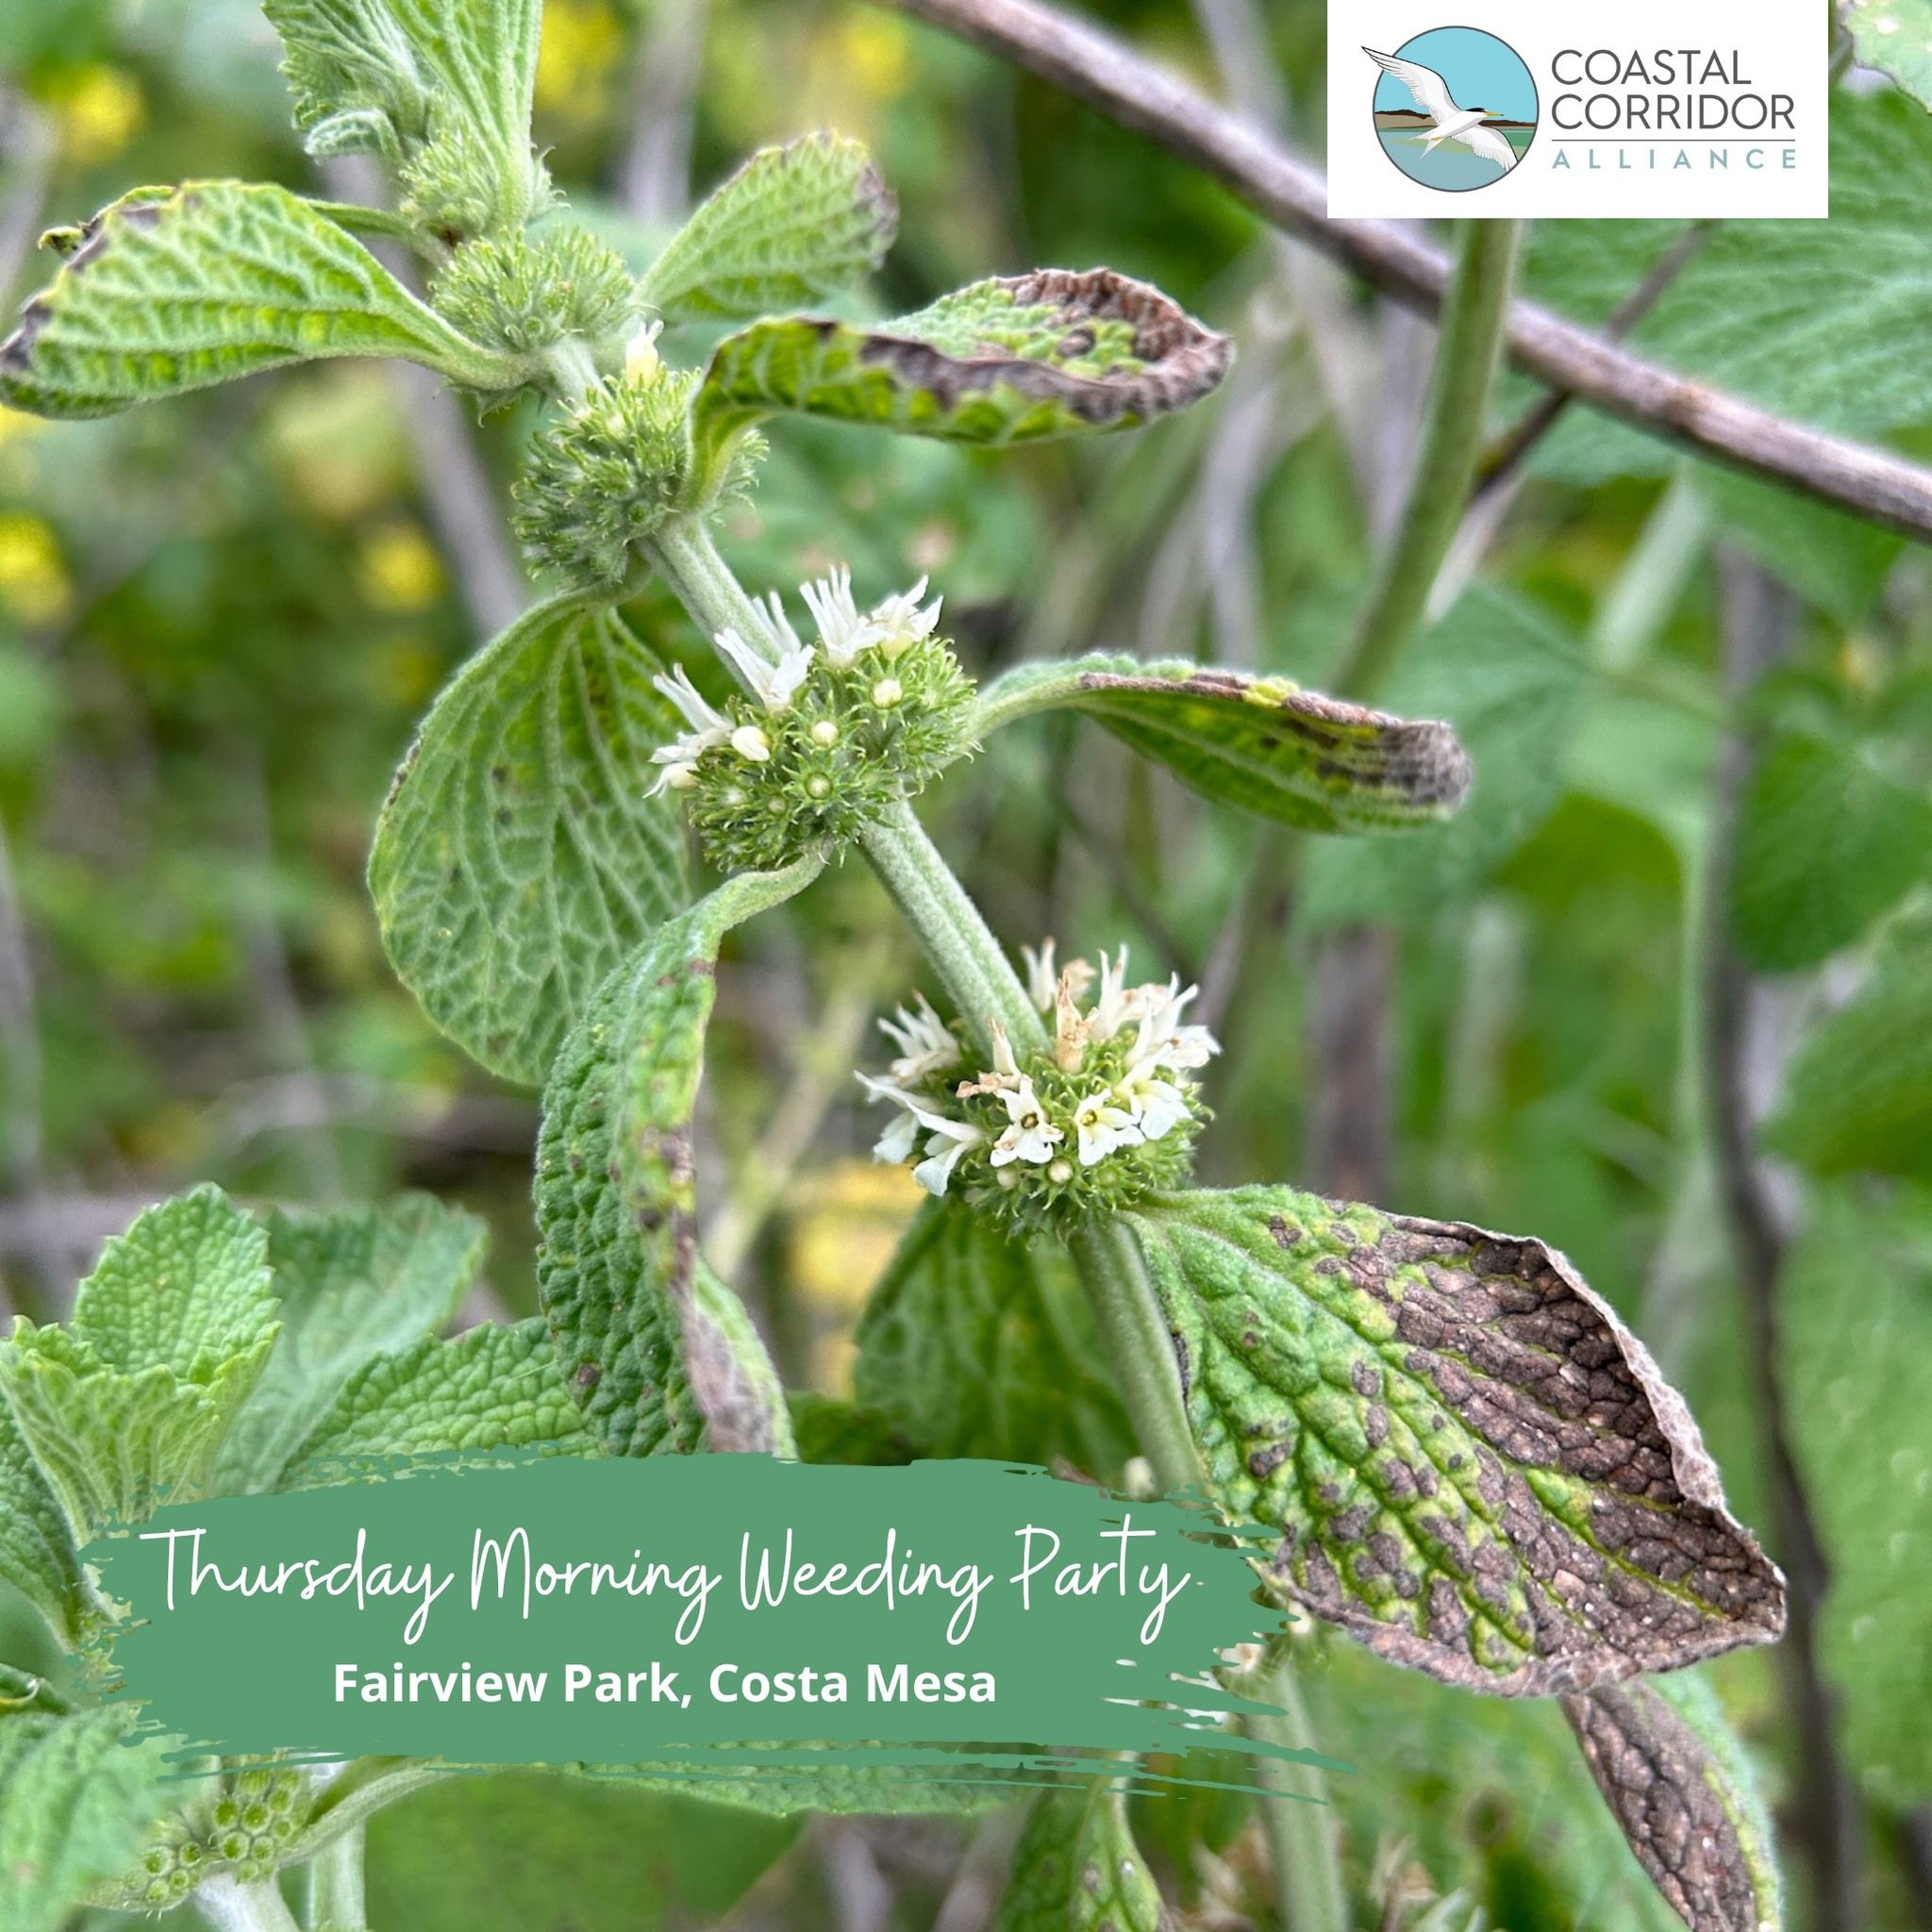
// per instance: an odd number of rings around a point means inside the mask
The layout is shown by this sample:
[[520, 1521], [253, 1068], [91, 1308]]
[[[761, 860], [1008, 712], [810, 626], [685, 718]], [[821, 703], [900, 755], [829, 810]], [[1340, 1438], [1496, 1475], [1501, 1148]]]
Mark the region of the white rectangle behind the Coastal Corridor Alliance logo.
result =
[[[1466, 193], [1410, 180], [1389, 162], [1376, 131], [1381, 70], [1362, 46], [1393, 52], [1432, 27], [1497, 35], [1536, 81], [1540, 118], [1528, 153], [1509, 174]], [[1633, 54], [1658, 77], [1609, 77]], [[1706, 77], [1712, 60], [1723, 79]], [[1665, 66], [1675, 70], [1667, 83]], [[1814, 0], [1617, 0], [1602, 8], [1329, 0], [1329, 214], [1830, 214], [1826, 66], [1826, 21]], [[1447, 77], [1453, 87], [1455, 75]], [[1634, 126], [1638, 116], [1669, 118], [1660, 95], [1675, 100], [1681, 129]], [[1741, 126], [1752, 122], [1776, 126]]]

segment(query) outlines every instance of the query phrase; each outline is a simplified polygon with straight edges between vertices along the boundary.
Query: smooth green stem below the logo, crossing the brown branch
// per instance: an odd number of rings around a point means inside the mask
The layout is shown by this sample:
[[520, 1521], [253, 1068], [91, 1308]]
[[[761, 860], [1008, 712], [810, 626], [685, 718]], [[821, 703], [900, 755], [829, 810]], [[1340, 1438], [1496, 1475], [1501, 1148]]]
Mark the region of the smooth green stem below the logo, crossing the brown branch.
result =
[[1463, 224], [1455, 278], [1443, 299], [1408, 502], [1354, 643], [1331, 678], [1339, 697], [1368, 697], [1381, 684], [1395, 653], [1422, 622], [1430, 591], [1463, 522], [1482, 450], [1520, 230], [1520, 222]]

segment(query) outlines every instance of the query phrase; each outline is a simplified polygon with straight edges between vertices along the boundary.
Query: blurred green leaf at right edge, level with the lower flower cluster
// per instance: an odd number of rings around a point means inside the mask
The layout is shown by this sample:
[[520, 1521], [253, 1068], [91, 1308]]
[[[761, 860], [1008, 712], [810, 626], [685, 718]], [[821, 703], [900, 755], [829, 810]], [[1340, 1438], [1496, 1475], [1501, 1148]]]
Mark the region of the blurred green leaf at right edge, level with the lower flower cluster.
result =
[[1932, 918], [1903, 918], [1864, 983], [1799, 1041], [1764, 1144], [1814, 1175], [1932, 1180]]

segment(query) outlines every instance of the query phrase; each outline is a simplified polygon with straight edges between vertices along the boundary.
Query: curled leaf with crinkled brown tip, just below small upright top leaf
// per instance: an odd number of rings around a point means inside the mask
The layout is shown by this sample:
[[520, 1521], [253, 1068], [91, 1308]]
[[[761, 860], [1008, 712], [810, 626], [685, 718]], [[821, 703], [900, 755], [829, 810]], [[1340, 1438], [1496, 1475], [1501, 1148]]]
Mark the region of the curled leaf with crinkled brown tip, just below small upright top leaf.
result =
[[947, 442], [1007, 446], [1136, 429], [1200, 402], [1227, 336], [1113, 269], [974, 282], [877, 328], [792, 315], [726, 336], [692, 427], [711, 473], [782, 410]]

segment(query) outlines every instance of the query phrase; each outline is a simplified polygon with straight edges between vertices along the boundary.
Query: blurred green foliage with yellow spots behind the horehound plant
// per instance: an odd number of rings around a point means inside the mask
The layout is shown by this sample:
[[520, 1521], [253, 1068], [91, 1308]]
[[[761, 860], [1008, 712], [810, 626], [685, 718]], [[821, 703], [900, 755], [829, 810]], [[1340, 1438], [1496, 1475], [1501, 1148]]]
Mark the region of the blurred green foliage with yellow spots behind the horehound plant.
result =
[[[1318, 137], [1318, 8], [1095, 12], [1211, 87], [1219, 60], [1252, 112]], [[315, 185], [251, 0], [10, 8], [0, 73], [15, 294], [41, 276], [41, 226], [131, 182]], [[1932, 124], [1857, 71], [1833, 120], [1833, 220], [1708, 238], [1638, 340], [1926, 454]], [[862, 595], [933, 572], [981, 676], [1128, 647], [1320, 686], [1399, 502], [1430, 330], [1146, 143], [891, 14], [547, 8], [539, 139], [639, 257], [694, 184], [813, 126], [866, 139], [900, 195], [887, 311], [983, 272], [1105, 261], [1233, 328], [1242, 361], [1215, 404], [1113, 446], [991, 460], [788, 425], [724, 531], [740, 572], [788, 585], [844, 558]], [[1530, 286], [1600, 319], [1667, 238], [1548, 226]], [[1511, 386], [1505, 415], [1524, 400]], [[429, 1028], [363, 887], [417, 717], [518, 595], [479, 504], [527, 431], [359, 365], [102, 423], [0, 413], [0, 1306], [58, 1314], [100, 1236], [214, 1179], [245, 1198], [433, 1188], [495, 1231], [464, 1320], [533, 1310], [535, 1099]], [[1793, 1246], [1772, 1366], [1832, 1565], [1835, 1743], [1870, 1922], [1932, 1924], [1932, 939], [1913, 906], [1932, 846], [1928, 562], [1582, 412], [1492, 506], [1461, 560], [1486, 587], [1389, 692], [1472, 746], [1482, 790], [1457, 827], [1291, 875], [1265, 829], [1049, 723], [954, 773], [939, 833], [1005, 935], [1128, 939], [1150, 970], [1202, 980], [1238, 1043], [1204, 1180], [1333, 1184], [1565, 1248], [1685, 1387], [1764, 1530], [1764, 1285], [1733, 1262], [1716, 1128], [1776, 1113], [1789, 1159], [1756, 1173]], [[645, 636], [684, 622], [651, 599], [634, 614]], [[1725, 896], [1741, 746], [1762, 755]], [[827, 885], [724, 976], [701, 1165], [742, 1177], [713, 1204], [713, 1256], [742, 1252], [788, 1381], [840, 1393], [864, 1291], [914, 1206], [867, 1163], [846, 1072], [914, 964], [858, 869]], [[1362, 1003], [1343, 995], [1381, 974], [1383, 1024], [1370, 1001], [1350, 1032]], [[1712, 1036], [1712, 985], [1743, 1016], [1737, 1043]], [[1803, 1824], [1806, 1745], [1777, 1660], [1706, 1675]], [[1553, 1708], [1459, 1696], [1341, 1644], [1306, 1677], [1323, 1745], [1358, 1766], [1337, 1797], [1385, 1924], [1455, 1891], [1513, 1932], [1671, 1922]], [[1142, 1826], [1194, 1922], [1248, 1909], [1238, 1808], [1167, 1801]], [[371, 1905], [429, 1928], [837, 1915], [962, 1932], [1010, 1833], [798, 1833], [497, 1779], [384, 1816]], [[593, 1851], [607, 1901], [554, 1917], [545, 1874]], [[458, 1861], [485, 1876], [452, 1903], [435, 1880]]]

